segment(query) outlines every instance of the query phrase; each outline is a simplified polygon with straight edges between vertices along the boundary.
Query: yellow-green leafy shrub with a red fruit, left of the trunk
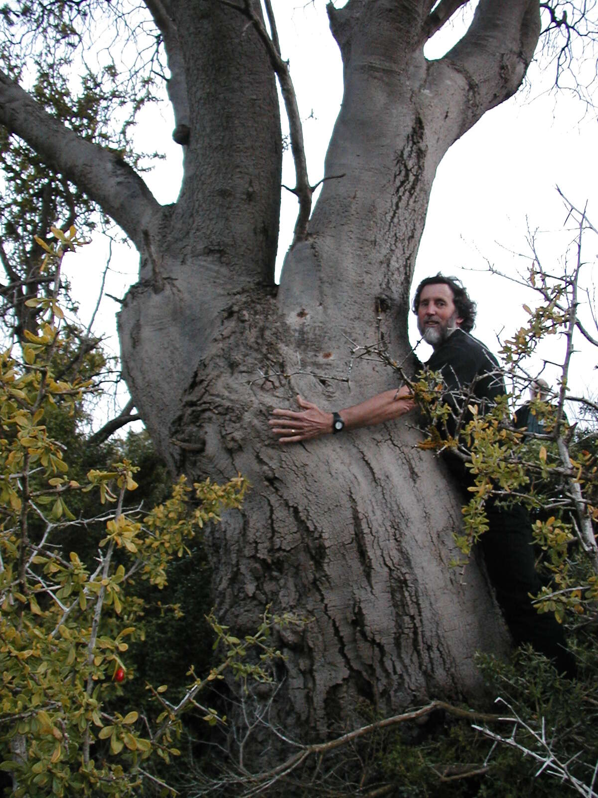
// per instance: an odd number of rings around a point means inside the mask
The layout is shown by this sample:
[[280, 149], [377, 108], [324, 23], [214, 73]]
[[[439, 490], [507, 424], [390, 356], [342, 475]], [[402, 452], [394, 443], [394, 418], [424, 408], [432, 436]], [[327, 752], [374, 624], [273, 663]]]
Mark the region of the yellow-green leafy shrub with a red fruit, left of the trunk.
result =
[[[73, 228], [53, 233], [54, 244], [39, 243], [57, 286], [63, 255], [80, 242]], [[180, 712], [218, 675], [193, 677], [179, 710], [164, 701], [167, 685], [150, 689], [153, 713], [132, 705], [140, 588], [164, 587], [168, 564], [224, 508], [240, 507], [247, 483], [181, 479], [141, 513], [128, 510], [138, 470], [129, 460], [73, 478], [55, 433], [93, 383], [85, 369], [58, 376], [69, 335], [56, 294], [28, 302], [41, 311], [37, 329], [25, 331], [22, 354], [0, 355], [0, 767], [14, 796], [138, 795], [144, 782], [165, 786], [151, 762], [179, 753]]]

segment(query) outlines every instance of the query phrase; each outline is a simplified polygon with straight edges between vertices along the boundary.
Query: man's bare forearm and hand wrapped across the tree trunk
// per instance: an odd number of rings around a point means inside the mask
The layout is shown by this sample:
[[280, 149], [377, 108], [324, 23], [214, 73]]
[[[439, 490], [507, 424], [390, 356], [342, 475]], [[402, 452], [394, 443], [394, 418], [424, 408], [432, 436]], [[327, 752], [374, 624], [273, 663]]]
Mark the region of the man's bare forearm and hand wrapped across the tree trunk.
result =
[[[332, 433], [332, 413], [325, 413], [313, 402], [297, 397], [297, 404], [302, 410], [276, 409], [272, 411], [269, 425], [281, 444], [295, 444], [300, 440], [309, 440]], [[408, 413], [415, 407], [411, 391], [407, 385], [397, 390], [384, 391], [375, 397], [366, 399], [360, 405], [340, 410], [344, 421], [344, 429], [357, 429], [374, 424], [383, 424], [393, 418]]]

